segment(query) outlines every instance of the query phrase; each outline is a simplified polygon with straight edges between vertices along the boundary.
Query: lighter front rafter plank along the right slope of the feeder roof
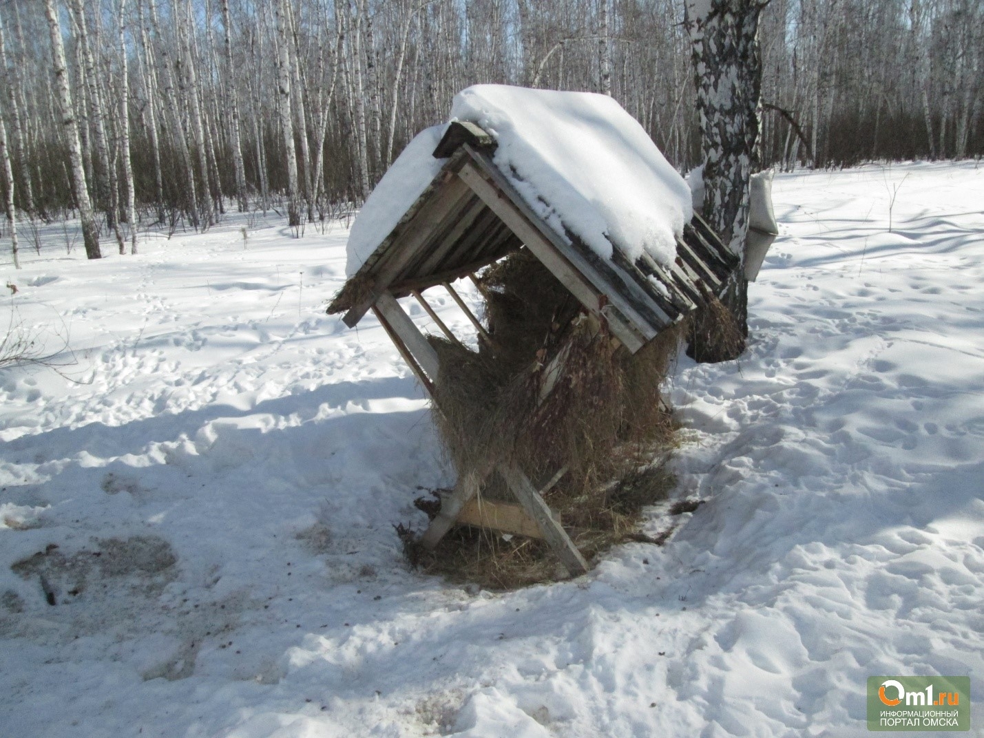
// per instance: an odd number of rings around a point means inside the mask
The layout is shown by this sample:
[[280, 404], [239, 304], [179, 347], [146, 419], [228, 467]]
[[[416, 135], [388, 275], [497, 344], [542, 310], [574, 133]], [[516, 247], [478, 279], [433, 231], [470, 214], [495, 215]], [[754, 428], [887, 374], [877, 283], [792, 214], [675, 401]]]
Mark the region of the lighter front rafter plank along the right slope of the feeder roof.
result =
[[[467, 147], [465, 147], [467, 149]], [[485, 177], [481, 171], [473, 164], [467, 163], [461, 167], [459, 177], [474, 190], [485, 204], [498, 215], [509, 229], [523, 241], [526, 248], [539, 259], [539, 261], [553, 274], [560, 279], [571, 293], [591, 312], [601, 312], [601, 303], [598, 300], [599, 290], [587, 280], [581, 272], [575, 269], [567, 258], [562, 255], [553, 243], [540, 230], [533, 225], [529, 218], [523, 214], [509, 198], [503, 197]], [[638, 333], [630, 328], [628, 321], [620, 313], [605, 316], [615, 334], [630, 351], [635, 352], [643, 347], [645, 340], [642, 340]]]

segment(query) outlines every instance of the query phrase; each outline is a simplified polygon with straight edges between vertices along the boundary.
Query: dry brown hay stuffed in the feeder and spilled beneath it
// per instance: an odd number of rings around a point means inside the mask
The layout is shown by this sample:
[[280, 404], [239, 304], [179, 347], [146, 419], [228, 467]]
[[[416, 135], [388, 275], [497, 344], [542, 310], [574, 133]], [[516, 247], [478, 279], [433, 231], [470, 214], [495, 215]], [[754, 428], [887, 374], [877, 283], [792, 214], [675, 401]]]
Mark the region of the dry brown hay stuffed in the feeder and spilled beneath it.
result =
[[[492, 473], [497, 463], [518, 465], [538, 488], [566, 465], [544, 499], [584, 556], [640, 540], [642, 509], [675, 484], [664, 466], [675, 425], [659, 385], [688, 326], [630, 354], [525, 249], [479, 285], [491, 341], [473, 351], [429, 337], [441, 359], [434, 419], [459, 475], [487, 477], [484, 497], [515, 501]], [[559, 352], [563, 372], [540, 402], [544, 367]], [[556, 573], [546, 544], [522, 536], [457, 526], [433, 552], [410, 538], [411, 560], [456, 580], [510, 587]]]

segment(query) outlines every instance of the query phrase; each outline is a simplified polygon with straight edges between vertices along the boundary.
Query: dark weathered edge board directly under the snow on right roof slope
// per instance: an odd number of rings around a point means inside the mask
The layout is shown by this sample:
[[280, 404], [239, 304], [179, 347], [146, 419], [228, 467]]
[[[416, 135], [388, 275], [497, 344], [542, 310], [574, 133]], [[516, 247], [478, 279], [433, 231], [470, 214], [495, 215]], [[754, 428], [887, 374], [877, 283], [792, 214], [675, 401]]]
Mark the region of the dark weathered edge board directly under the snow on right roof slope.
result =
[[[478, 174], [478, 177], [483, 182], [485, 182], [486, 185], [489, 185], [489, 183], [485, 180], [485, 176], [491, 178], [492, 183], [494, 183], [494, 187], [492, 187], [492, 193], [494, 194], [496, 200], [499, 201], [503, 200], [502, 196], [499, 193], [505, 195], [506, 200], [508, 200], [508, 202], [513, 205], [513, 208], [515, 209], [516, 213], [521, 215], [523, 219], [526, 220], [527, 223], [537, 233], [539, 233], [540, 236], [547, 243], [553, 246], [554, 250], [559, 252], [567, 260], [567, 262], [572, 267], [574, 267], [577, 270], [577, 272], [580, 275], [582, 275], [584, 279], [586, 279], [593, 286], [594, 290], [597, 293], [604, 294], [607, 297], [608, 301], [611, 302], [618, 309], [619, 313], [621, 313], [622, 316], [624, 316], [623, 319], [629, 321], [630, 325], [633, 328], [635, 328], [638, 333], [646, 337], [646, 340], [656, 335], [656, 333], [658, 332], [657, 327], [651, 326], [649, 321], [646, 320], [646, 318], [644, 318], [642, 315], [640, 315], [640, 313], [636, 310], [636, 308], [633, 307], [625, 299], [625, 296], [618, 289], [618, 284], [612, 282], [611, 278], [605, 277], [600, 272], [598, 272], [598, 270], [595, 269], [595, 267], [590, 264], [590, 262], [584, 257], [583, 254], [581, 254], [576, 248], [574, 248], [571, 244], [567, 243], [563, 238], [561, 238], [556, 232], [554, 232], [552, 228], [550, 228], [548, 225], [543, 223], [542, 219], [538, 215], [533, 213], [533, 211], [523, 200], [523, 197], [520, 195], [520, 193], [516, 191], [516, 188], [512, 185], [512, 183], [510, 183], [508, 179], [506, 179], [506, 176], [501, 171], [499, 171], [498, 167], [494, 163], [492, 163], [491, 159], [489, 159], [488, 156], [474, 151], [471, 147], [467, 145], [465, 145], [463, 149], [471, 157], [471, 160], [465, 162], [461, 166], [461, 171], [459, 171], [459, 176], [462, 179], [465, 179], [465, 181], [467, 181], [468, 184], [472, 186], [472, 189], [474, 189], [474, 184], [475, 184], [473, 181], [474, 176], [472, 175], [472, 170]], [[487, 197], [483, 196], [482, 193], [478, 192], [477, 190], [476, 190], [476, 194], [479, 197], [481, 197], [482, 200], [485, 200], [485, 202], [488, 204], [490, 208], [493, 208], [493, 210], [495, 210], [492, 203], [489, 202], [489, 199]], [[506, 217], [504, 217], [502, 214], [499, 214], [498, 211], [497, 211], [497, 215], [502, 217], [502, 219], [506, 222], [507, 225], [510, 226], [513, 232], [516, 233], [518, 236], [520, 236], [520, 238], [523, 240], [523, 243], [526, 243], [526, 239], [523, 237], [523, 234], [520, 233], [514, 227], [513, 223], [507, 220]], [[528, 247], [529, 244], [526, 243], [526, 246]], [[538, 257], [539, 255], [537, 255], [537, 258]], [[546, 267], [548, 269], [551, 269], [551, 265], [549, 264], [546, 264]], [[553, 270], [551, 269], [551, 272], [552, 271]], [[561, 279], [561, 281], [564, 281], [564, 279], [561, 278], [559, 275], [555, 274], [555, 276]], [[617, 277], [614, 274], [613, 270], [612, 270], [611, 277], [618, 279], [619, 283], [624, 283], [621, 278]], [[631, 285], [629, 286], [631, 288]], [[568, 288], [570, 289], [570, 287]], [[637, 294], [636, 297], [637, 299], [646, 301], [646, 305], [647, 307], [649, 307], [648, 303], [650, 301], [648, 300], [648, 295], [643, 293], [641, 295]], [[586, 303], [585, 303], [585, 307], [587, 307], [590, 310], [594, 309], [591, 306], [587, 305]]]

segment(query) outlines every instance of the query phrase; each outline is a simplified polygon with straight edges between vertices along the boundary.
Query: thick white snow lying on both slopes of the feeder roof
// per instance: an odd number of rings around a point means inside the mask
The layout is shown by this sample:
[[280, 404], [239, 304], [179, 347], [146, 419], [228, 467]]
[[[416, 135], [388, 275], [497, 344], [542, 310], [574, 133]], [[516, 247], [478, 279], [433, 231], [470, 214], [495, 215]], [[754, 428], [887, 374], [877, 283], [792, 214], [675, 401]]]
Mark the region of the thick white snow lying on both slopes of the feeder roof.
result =
[[[631, 261], [644, 251], [673, 261], [693, 215], [690, 189], [611, 97], [476, 85], [455, 96], [451, 114], [496, 139], [496, 166], [562, 237], [576, 235], [606, 260], [614, 243]], [[446, 128], [418, 134], [366, 200], [348, 239], [349, 277], [440, 170], [445, 160], [432, 154]]]

